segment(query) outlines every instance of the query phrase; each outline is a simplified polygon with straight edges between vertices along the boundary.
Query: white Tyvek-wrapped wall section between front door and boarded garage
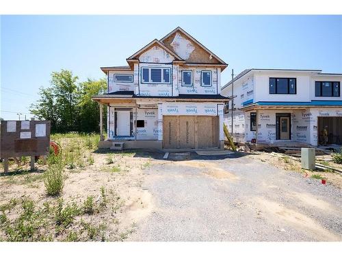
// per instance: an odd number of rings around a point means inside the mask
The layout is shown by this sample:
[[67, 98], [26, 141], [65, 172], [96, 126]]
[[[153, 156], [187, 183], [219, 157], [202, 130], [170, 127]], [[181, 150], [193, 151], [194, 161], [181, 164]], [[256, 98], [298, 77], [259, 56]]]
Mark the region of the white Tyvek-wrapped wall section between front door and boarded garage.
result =
[[[135, 120], [134, 111], [133, 111], [133, 120]], [[144, 120], [145, 122], [144, 128], [137, 128], [137, 139], [141, 139], [141, 140], [158, 139], [158, 110], [157, 109], [138, 109], [137, 120]]]

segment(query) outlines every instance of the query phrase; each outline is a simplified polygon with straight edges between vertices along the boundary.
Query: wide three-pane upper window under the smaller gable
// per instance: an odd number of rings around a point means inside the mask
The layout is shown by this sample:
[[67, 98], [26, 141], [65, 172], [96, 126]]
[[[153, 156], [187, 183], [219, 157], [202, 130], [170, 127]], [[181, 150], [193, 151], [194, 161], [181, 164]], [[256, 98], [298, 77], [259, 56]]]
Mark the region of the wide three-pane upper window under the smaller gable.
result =
[[170, 83], [171, 68], [142, 68], [142, 83]]

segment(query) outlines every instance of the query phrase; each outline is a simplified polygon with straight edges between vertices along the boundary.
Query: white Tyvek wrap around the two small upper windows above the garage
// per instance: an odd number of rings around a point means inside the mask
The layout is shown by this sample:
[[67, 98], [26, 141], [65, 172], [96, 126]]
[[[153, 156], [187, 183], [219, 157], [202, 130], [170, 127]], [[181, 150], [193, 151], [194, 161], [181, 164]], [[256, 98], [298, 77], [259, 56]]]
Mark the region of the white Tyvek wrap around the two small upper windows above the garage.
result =
[[[182, 85], [182, 70], [179, 69], [178, 72], [178, 84], [179, 84], [179, 94], [219, 94], [219, 73], [220, 70], [218, 68], [194, 68], [194, 69], [183, 69], [183, 70], [192, 70], [192, 86], [183, 86]], [[201, 74], [202, 71], [211, 71], [211, 85], [210, 86], [202, 86], [201, 85]]]

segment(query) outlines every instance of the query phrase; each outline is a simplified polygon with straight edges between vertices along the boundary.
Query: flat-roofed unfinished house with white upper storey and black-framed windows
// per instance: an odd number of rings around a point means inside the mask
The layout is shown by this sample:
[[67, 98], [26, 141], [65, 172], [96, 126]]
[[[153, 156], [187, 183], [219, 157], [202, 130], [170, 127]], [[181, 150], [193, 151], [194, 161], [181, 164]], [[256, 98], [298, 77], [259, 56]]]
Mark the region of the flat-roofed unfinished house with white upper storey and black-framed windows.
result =
[[[248, 69], [234, 79], [233, 137], [239, 143], [342, 144], [342, 74]], [[231, 96], [232, 81], [222, 87]], [[231, 132], [231, 102], [224, 122]], [[326, 129], [326, 135], [324, 135]]]

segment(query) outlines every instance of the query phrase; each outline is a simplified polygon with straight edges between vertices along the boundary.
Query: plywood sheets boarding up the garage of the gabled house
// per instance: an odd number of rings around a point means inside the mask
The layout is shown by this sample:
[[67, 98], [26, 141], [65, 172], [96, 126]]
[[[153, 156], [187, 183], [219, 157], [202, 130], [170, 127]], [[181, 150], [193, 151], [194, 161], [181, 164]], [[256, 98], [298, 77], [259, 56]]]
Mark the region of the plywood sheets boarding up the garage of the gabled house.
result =
[[164, 115], [163, 147], [200, 149], [219, 147], [219, 118], [207, 115]]

